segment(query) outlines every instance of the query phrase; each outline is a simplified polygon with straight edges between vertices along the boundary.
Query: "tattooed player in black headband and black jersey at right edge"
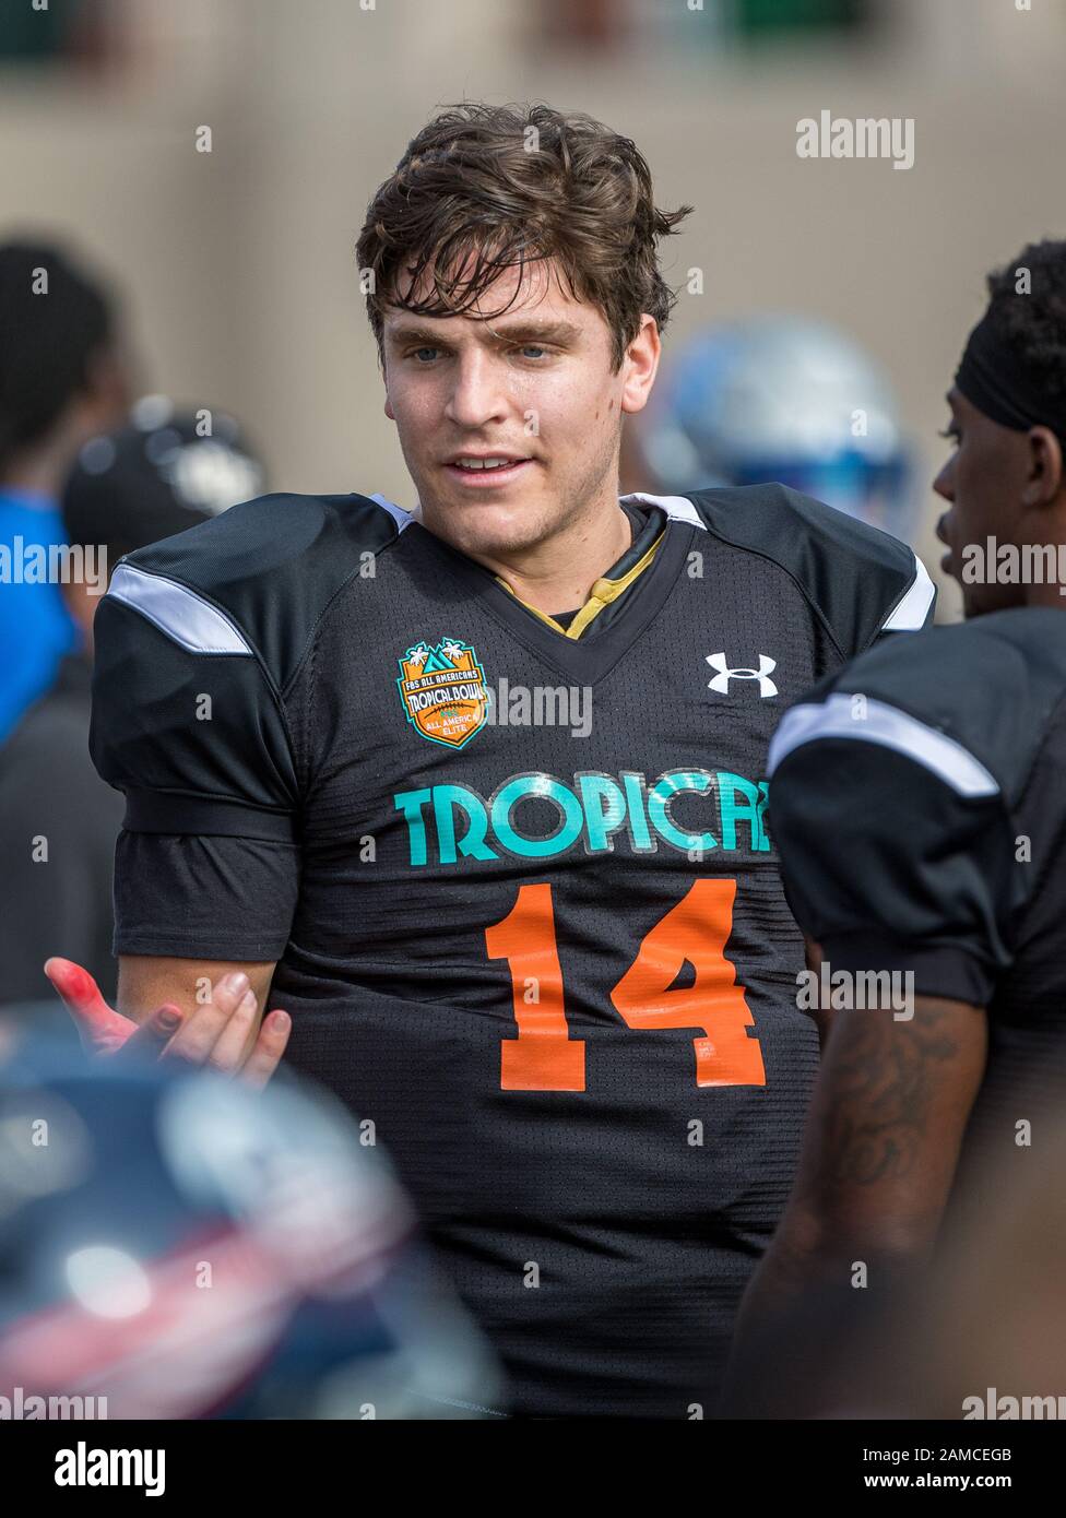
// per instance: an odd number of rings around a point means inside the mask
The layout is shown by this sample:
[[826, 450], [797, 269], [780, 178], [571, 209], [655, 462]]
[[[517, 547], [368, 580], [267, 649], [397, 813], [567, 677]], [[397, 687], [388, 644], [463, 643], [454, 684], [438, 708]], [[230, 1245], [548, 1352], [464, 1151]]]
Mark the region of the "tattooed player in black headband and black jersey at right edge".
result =
[[[934, 486], [970, 621], [856, 659], [770, 747], [788, 899], [852, 1009], [746, 1301], [733, 1412], [809, 1410], [835, 1374], [832, 1336], [803, 1333], [817, 1290], [859, 1316], [884, 1299], [945, 1216], [989, 1208], [992, 1167], [1030, 1175], [1066, 1093], [1066, 243], [989, 290]], [[872, 976], [888, 1005], [859, 1009]]]

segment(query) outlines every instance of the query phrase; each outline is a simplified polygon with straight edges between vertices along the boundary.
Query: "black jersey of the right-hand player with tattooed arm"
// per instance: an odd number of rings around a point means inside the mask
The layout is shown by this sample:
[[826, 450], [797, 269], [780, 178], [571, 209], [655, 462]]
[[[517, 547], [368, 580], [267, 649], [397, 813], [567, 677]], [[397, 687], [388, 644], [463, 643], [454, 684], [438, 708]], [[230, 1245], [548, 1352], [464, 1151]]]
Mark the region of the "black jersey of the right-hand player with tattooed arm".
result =
[[784, 716], [771, 826], [831, 972], [914, 976], [986, 1008], [954, 1208], [1019, 1122], [1066, 1098], [1066, 616], [996, 612], [893, 639]]

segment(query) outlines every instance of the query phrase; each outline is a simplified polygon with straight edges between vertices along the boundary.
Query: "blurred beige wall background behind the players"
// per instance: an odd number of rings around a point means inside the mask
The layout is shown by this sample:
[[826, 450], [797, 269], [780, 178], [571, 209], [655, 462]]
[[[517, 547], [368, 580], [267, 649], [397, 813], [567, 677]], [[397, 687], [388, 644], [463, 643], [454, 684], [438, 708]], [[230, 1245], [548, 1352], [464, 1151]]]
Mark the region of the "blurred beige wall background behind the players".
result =
[[[237, 411], [275, 489], [413, 504], [355, 276], [366, 200], [437, 103], [589, 111], [659, 203], [695, 205], [667, 355], [759, 311], [855, 339], [917, 449], [938, 574], [926, 481], [982, 276], [1063, 231], [1064, 44], [1046, 0], [3, 0], [0, 238], [91, 258], [141, 389]], [[822, 109], [913, 117], [914, 165], [797, 158]]]

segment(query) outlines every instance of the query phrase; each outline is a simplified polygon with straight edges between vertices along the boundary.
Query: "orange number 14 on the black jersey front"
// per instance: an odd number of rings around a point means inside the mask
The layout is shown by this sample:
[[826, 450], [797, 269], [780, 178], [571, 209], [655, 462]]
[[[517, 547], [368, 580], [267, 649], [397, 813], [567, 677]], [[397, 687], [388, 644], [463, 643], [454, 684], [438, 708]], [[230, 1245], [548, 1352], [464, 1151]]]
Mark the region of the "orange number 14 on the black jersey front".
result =
[[[733, 926], [735, 880], [695, 880], [641, 943], [610, 993], [629, 1028], [697, 1028], [697, 1085], [765, 1085], [762, 1050], [747, 1029], [755, 1020], [726, 958]], [[518, 1038], [501, 1046], [504, 1091], [583, 1091], [585, 1040], [571, 1038], [550, 885], [522, 885], [501, 923], [486, 927], [490, 959], [506, 959]], [[689, 961], [694, 984], [674, 987]]]

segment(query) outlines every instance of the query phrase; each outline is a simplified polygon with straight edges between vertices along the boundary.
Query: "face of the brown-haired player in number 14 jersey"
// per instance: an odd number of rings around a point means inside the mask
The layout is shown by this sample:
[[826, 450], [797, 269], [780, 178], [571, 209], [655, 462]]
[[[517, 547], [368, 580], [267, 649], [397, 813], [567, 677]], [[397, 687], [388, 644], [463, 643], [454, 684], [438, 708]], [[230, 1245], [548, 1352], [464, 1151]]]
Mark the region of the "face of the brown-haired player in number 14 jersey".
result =
[[[503, 305], [495, 320], [480, 314]], [[463, 316], [390, 307], [383, 354], [386, 416], [422, 521], [460, 551], [507, 559], [615, 505], [621, 419], [644, 407], [658, 366], [651, 317], [612, 372], [603, 314], [541, 263], [521, 282], [506, 270]]]

